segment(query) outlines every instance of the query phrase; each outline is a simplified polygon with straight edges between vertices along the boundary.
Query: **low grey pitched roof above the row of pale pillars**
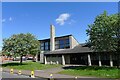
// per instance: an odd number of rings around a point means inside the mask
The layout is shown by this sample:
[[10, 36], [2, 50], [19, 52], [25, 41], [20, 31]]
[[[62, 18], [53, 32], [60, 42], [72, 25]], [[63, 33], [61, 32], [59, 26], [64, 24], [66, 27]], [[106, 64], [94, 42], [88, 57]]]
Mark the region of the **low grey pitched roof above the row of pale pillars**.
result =
[[91, 50], [88, 47], [83, 47], [81, 45], [78, 45], [73, 49], [59, 49], [55, 51], [46, 52], [45, 54], [70, 54], [70, 53], [88, 53], [88, 52], [93, 52], [93, 50]]

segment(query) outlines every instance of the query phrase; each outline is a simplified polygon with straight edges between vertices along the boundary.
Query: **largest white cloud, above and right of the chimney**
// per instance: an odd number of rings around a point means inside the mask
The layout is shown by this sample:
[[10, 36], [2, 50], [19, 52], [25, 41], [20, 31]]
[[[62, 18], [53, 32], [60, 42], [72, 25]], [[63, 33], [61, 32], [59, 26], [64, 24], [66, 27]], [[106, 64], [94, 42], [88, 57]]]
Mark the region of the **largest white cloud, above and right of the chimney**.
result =
[[60, 25], [64, 25], [65, 21], [67, 21], [69, 17], [70, 17], [69, 13], [60, 14], [59, 17], [56, 19], [56, 23]]

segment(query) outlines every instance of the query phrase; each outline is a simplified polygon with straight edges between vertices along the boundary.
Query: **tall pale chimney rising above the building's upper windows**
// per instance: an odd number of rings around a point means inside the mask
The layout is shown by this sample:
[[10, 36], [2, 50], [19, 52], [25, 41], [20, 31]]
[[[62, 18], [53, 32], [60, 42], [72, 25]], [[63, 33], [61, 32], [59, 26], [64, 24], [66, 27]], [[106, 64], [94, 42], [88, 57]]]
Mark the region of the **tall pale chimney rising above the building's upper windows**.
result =
[[50, 51], [55, 50], [55, 27], [50, 25]]

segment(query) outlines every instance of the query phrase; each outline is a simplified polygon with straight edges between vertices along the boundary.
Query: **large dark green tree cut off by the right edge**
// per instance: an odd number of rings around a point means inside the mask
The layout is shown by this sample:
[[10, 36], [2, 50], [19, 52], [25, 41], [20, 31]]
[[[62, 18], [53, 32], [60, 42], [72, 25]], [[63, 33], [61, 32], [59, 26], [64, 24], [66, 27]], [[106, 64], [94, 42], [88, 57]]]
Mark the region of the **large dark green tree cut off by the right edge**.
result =
[[119, 14], [108, 15], [104, 11], [103, 14], [98, 15], [94, 23], [88, 25], [89, 28], [86, 30], [89, 36], [88, 42], [92, 44], [91, 49], [97, 52], [118, 52], [120, 41], [119, 21]]

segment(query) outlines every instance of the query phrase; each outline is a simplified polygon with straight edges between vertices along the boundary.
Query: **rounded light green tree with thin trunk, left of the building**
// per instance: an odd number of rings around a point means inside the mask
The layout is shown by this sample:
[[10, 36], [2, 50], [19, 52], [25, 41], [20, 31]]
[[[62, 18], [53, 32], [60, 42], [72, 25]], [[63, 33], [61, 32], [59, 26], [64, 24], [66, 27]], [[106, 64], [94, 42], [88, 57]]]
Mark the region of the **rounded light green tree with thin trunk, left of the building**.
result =
[[8, 39], [3, 39], [3, 51], [13, 55], [19, 55], [20, 64], [22, 64], [23, 55], [36, 55], [40, 52], [40, 43], [36, 37], [30, 33], [14, 34]]

